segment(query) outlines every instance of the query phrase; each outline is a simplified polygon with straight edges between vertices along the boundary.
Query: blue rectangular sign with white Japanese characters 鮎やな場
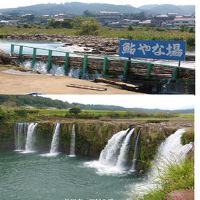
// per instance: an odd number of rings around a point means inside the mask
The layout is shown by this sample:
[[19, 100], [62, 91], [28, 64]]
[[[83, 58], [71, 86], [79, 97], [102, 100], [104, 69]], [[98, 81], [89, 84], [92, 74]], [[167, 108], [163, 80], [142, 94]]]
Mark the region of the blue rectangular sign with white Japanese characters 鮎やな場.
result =
[[186, 42], [175, 40], [120, 40], [120, 57], [185, 60]]

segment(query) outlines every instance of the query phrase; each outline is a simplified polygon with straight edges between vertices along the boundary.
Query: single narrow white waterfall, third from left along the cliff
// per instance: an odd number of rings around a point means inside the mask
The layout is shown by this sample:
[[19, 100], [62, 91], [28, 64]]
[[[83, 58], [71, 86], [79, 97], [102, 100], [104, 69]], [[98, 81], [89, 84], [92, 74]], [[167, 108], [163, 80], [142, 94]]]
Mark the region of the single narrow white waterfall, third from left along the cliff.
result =
[[60, 124], [57, 123], [54, 134], [51, 141], [51, 149], [50, 154], [57, 155], [58, 154], [58, 148], [59, 148], [59, 135], [60, 135]]

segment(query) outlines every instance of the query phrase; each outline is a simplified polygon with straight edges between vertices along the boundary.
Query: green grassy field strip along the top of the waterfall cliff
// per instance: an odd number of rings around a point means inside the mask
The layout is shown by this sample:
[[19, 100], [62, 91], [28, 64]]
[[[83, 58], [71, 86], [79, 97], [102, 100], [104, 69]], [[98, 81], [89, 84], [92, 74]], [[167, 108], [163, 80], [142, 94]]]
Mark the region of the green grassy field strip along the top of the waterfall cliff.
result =
[[[7, 102], [0, 106], [0, 111], [9, 121], [19, 120], [49, 120], [51, 118], [65, 119], [134, 119], [150, 120], [152, 122], [161, 120], [194, 120], [194, 114], [177, 114], [177, 113], [145, 113], [134, 111], [110, 111], [110, 110], [82, 110], [79, 114], [69, 113], [67, 109], [47, 109], [34, 107], [17, 107], [12, 102]], [[4, 117], [5, 118], [5, 117]]]

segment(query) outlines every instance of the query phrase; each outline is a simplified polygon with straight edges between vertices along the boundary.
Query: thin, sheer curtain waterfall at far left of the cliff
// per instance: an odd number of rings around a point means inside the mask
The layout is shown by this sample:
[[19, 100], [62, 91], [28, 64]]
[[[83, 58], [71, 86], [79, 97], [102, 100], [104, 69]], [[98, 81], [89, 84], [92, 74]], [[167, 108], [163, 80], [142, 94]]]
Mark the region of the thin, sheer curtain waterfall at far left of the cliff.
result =
[[24, 138], [27, 132], [28, 123], [17, 123], [14, 128], [15, 133], [15, 151], [24, 150]]

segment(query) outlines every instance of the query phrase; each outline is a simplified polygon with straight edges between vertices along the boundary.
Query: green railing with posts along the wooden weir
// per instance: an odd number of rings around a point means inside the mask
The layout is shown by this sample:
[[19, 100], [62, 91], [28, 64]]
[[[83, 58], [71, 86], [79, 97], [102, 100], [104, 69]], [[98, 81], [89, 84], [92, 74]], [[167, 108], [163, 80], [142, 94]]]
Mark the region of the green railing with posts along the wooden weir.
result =
[[[21, 44], [11, 44], [11, 55], [16, 55], [15, 54], [15, 47], [19, 47], [19, 60], [22, 59], [23, 54], [24, 53], [24, 48], [29, 48], [32, 49], [32, 63], [31, 66], [34, 67], [36, 61], [37, 61], [37, 53], [38, 50], [44, 50], [47, 51], [47, 72], [49, 73], [50, 70], [52, 69], [52, 61], [53, 61], [53, 52], [57, 52], [57, 53], [62, 53], [64, 57], [64, 74], [68, 75], [69, 73], [69, 69], [70, 69], [70, 56], [73, 57], [81, 57], [83, 59], [83, 64], [82, 64], [82, 71], [81, 71], [81, 77], [85, 78], [86, 75], [88, 74], [88, 59], [89, 58], [93, 58], [93, 59], [100, 59], [103, 60], [103, 65], [102, 65], [102, 75], [103, 77], [107, 77], [109, 76], [109, 63], [110, 61], [113, 60], [123, 60], [124, 62], [124, 72], [123, 72], [123, 79], [126, 80], [129, 74], [129, 68], [131, 66], [131, 63], [141, 63], [144, 64], [147, 67], [147, 71], [146, 71], [146, 75], [145, 75], [145, 79], [150, 79], [151, 78], [151, 72], [153, 70], [154, 64], [151, 62], [144, 62], [144, 61], [138, 61], [138, 60], [131, 60], [131, 59], [126, 59], [126, 58], [120, 58], [120, 57], [114, 57], [114, 56], [94, 56], [94, 55], [89, 55], [89, 54], [75, 54], [75, 53], [69, 53], [66, 51], [61, 51], [61, 50], [56, 50], [56, 49], [47, 49], [47, 48], [41, 48], [41, 47], [31, 47], [31, 46], [27, 46], [27, 45], [21, 45]], [[59, 55], [60, 56], [60, 55]], [[159, 64], [157, 64], [159, 65]], [[179, 67], [177, 66], [169, 66], [169, 65], [165, 65], [162, 64], [163, 67], [171, 67], [173, 68], [173, 74], [172, 74], [172, 78], [173, 79], [178, 79], [178, 70]]]

